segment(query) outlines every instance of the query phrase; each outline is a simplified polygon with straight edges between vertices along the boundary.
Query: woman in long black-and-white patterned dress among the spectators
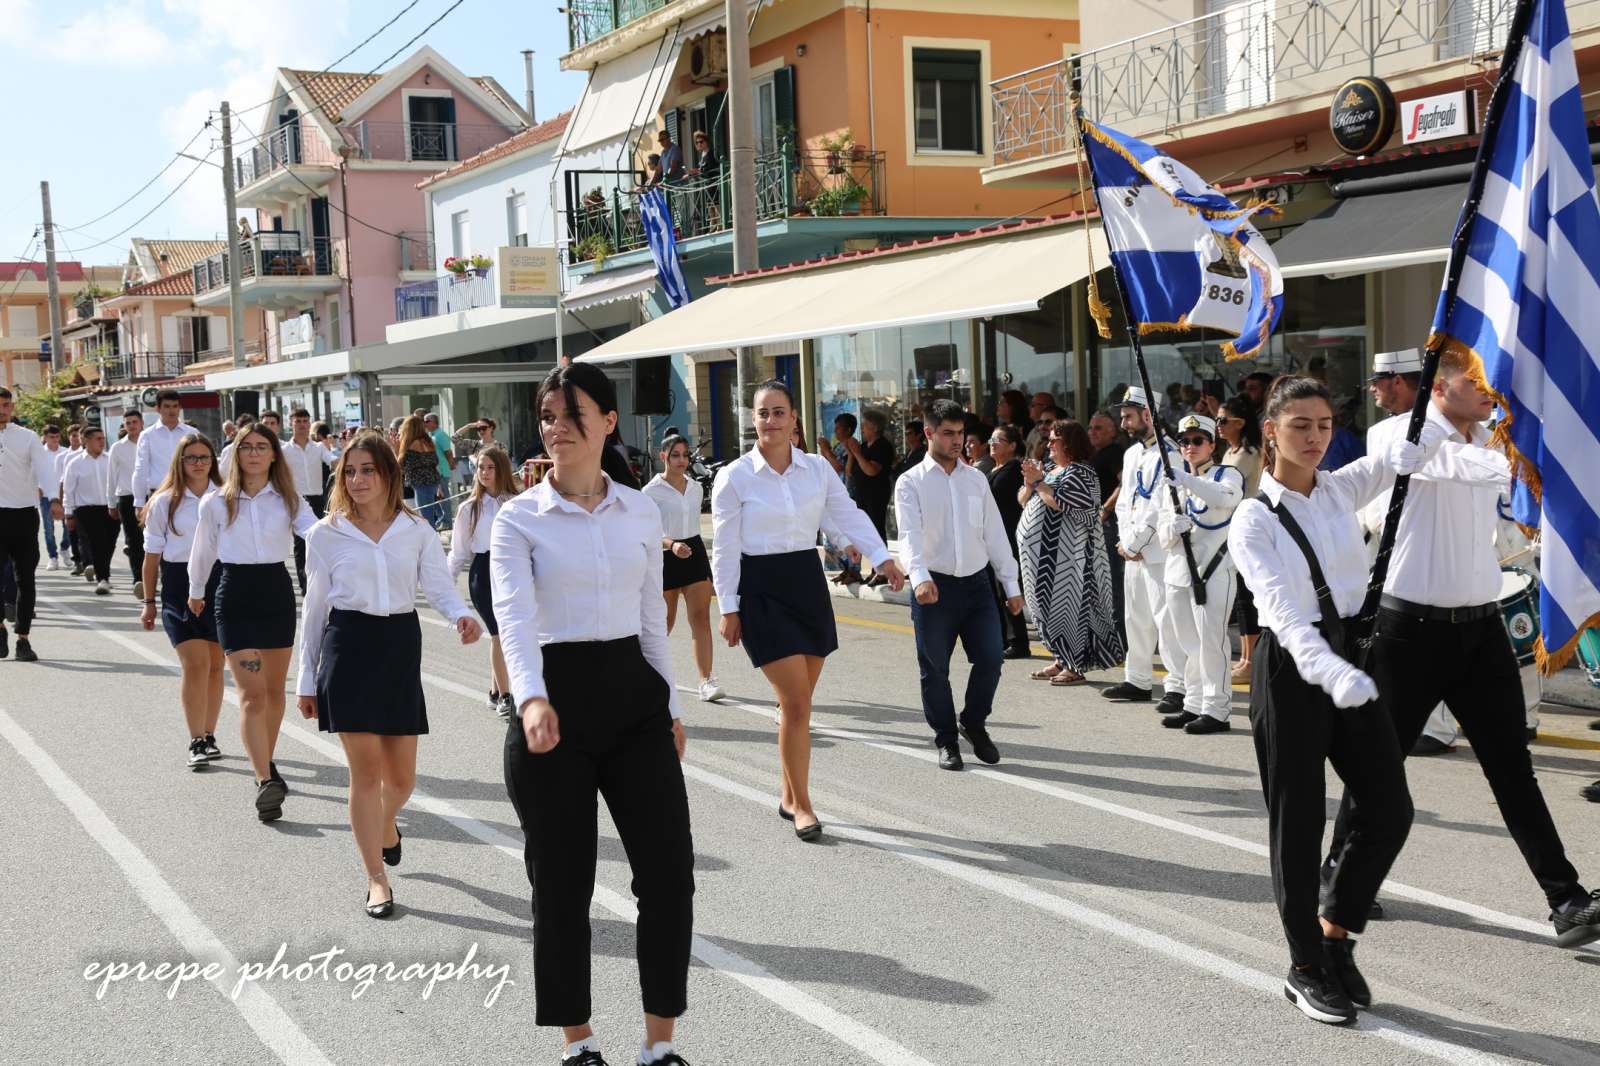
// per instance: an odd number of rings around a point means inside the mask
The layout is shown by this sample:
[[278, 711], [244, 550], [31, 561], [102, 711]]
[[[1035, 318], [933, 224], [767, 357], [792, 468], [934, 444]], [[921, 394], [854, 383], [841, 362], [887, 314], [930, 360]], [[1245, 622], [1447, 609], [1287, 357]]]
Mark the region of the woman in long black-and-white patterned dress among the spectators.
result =
[[1123, 656], [1099, 525], [1099, 480], [1088, 464], [1093, 451], [1083, 426], [1061, 419], [1050, 432], [1054, 469], [1046, 474], [1038, 463], [1022, 464], [1024, 511], [1016, 530], [1022, 597], [1056, 656], [1034, 677], [1051, 685], [1082, 683], [1085, 671], [1115, 666]]

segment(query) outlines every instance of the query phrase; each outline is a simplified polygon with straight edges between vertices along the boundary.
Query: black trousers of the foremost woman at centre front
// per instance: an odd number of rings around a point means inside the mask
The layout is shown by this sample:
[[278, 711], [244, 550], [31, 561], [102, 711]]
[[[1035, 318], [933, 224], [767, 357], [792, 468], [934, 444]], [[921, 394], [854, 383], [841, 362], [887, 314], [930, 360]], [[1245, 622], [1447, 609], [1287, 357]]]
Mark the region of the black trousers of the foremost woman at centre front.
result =
[[645, 1013], [677, 1018], [688, 1008], [694, 844], [667, 683], [637, 637], [546, 645], [544, 683], [560, 715], [560, 743], [530, 754], [515, 717], [506, 733], [506, 791], [533, 885], [534, 1023], [581, 1026], [590, 1018], [598, 795], [634, 871]]

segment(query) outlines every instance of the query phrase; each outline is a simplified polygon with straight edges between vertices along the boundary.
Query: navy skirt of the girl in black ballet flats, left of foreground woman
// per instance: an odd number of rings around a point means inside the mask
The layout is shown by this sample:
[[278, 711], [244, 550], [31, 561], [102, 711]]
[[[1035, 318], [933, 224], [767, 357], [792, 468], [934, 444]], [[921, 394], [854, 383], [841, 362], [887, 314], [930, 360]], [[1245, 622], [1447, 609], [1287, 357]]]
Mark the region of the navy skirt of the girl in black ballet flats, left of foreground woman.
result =
[[317, 727], [325, 733], [382, 736], [427, 731], [422, 623], [416, 611], [328, 611], [317, 659]]

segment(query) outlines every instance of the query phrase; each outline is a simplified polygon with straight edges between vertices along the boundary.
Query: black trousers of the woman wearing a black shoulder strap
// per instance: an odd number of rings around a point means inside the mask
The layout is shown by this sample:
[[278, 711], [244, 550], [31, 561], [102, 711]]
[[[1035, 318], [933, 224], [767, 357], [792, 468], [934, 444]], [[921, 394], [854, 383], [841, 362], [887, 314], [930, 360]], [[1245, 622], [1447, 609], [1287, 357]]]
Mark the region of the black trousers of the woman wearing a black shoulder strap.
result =
[[[1379, 682], [1381, 685], [1382, 682]], [[1309, 685], [1270, 629], [1251, 656], [1250, 728], [1267, 797], [1272, 895], [1296, 965], [1325, 967], [1320, 914], [1352, 933], [1366, 928], [1366, 912], [1411, 832], [1411, 792], [1394, 722], [1378, 703], [1341, 711]], [[1338, 864], [1322, 885], [1322, 834], [1326, 826], [1323, 762], [1366, 816], [1352, 828]]]

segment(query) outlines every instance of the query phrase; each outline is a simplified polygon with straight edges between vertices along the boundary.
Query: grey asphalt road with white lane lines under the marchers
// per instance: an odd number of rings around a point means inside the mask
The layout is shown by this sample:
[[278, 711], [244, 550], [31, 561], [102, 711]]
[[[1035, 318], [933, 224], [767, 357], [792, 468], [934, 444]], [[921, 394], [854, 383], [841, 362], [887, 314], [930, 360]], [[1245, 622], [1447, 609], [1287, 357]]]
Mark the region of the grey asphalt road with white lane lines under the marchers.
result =
[[[0, 1060], [558, 1060], [533, 1026], [486, 645], [461, 648], [424, 611], [434, 731], [402, 820], [398, 914], [374, 922], [334, 738], [291, 706], [285, 818], [259, 824], [232, 704], [226, 757], [187, 770], [174, 656], [138, 627], [125, 584], [107, 600], [40, 573], [40, 600], [43, 661], [0, 661]], [[1003, 762], [946, 773], [906, 610], [837, 607], [843, 648], [814, 722], [822, 845], [776, 816], [771, 693], [742, 653], [718, 650], [726, 701], [685, 696], [698, 936], [680, 1048], [694, 1066], [1600, 1063], [1600, 952], [1554, 946], [1466, 746], [1410, 767], [1416, 828], [1384, 892], [1390, 920], [1360, 948], [1378, 1007], [1333, 1029], [1282, 994], [1242, 703], [1232, 733], [1186, 736], [1149, 706], [1106, 704], [1104, 677], [1051, 690], [1008, 663]], [[691, 682], [686, 629], [672, 640]], [[1578, 797], [1600, 778], [1586, 727], [1549, 714], [1534, 763], [1600, 885], [1600, 807]], [[640, 1039], [630, 917], [602, 813], [594, 1021], [622, 1064]]]

